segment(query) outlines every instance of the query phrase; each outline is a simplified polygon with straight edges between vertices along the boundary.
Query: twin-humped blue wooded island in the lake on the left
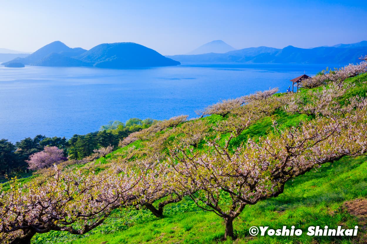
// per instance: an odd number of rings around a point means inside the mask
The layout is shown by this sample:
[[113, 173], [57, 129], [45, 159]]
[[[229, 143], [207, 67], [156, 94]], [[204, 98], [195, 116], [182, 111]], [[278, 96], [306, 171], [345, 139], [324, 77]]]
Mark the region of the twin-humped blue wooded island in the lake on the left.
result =
[[100, 44], [87, 51], [83, 48], [69, 48], [61, 41], [51, 42], [26, 57], [15, 58], [2, 64], [10, 63], [52, 67], [93, 66], [111, 69], [180, 64], [153, 49], [132, 42]]

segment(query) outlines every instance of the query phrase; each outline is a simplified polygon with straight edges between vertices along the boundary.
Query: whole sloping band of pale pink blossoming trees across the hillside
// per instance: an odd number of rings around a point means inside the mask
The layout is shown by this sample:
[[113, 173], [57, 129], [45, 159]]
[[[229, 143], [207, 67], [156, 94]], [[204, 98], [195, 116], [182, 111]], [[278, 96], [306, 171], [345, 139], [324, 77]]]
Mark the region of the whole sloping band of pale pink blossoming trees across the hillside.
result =
[[[234, 237], [233, 220], [246, 205], [278, 196], [288, 180], [323, 163], [366, 154], [367, 101], [341, 103], [349, 88], [335, 79], [305, 96], [272, 96], [277, 89], [270, 89], [223, 101], [201, 113], [221, 115], [215, 123], [180, 116], [131, 134], [121, 141], [126, 150], [98, 165], [99, 173], [92, 164], [59, 164], [29, 184], [12, 180], [10, 190], [0, 190], [0, 240], [30, 243], [50, 230], [84, 234], [116, 208], [146, 207], [162, 217], [164, 206], [183, 196], [222, 217], [225, 237]], [[241, 139], [279, 109], [313, 119], [292, 127], [273, 121], [259, 140]], [[130, 145], [136, 140], [139, 146]]]

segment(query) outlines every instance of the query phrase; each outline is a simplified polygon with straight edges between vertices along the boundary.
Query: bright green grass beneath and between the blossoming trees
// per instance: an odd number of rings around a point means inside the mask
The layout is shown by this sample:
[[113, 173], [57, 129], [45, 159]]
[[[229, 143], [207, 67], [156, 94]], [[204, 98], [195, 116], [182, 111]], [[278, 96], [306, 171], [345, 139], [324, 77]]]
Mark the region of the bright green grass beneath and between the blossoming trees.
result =
[[[360, 95], [366, 96], [367, 88], [359, 85], [367, 80], [367, 74], [350, 78], [346, 82], [356, 85], [342, 100]], [[316, 88], [317, 89], [317, 88]], [[301, 94], [306, 90], [302, 90]], [[219, 115], [203, 118], [215, 123]], [[301, 120], [311, 119], [306, 115], [289, 115], [276, 111], [244, 130], [233, 146], [247, 138], [258, 138], [272, 130], [272, 119], [280, 126], [292, 126]], [[140, 147], [140, 142], [132, 145]], [[128, 145], [127, 147], [131, 147]], [[126, 148], [117, 149], [106, 158], [98, 159], [95, 165], [105, 164], [118, 156]], [[295, 244], [295, 243], [366, 243], [367, 215], [356, 217], [348, 212], [345, 202], [367, 197], [367, 157], [342, 158], [333, 164], [324, 164], [305, 175], [287, 182], [284, 193], [278, 197], [260, 201], [254, 206], [246, 206], [239, 218], [234, 221], [236, 240], [222, 240], [224, 221], [212, 212], [200, 210], [188, 197], [176, 204], [165, 207], [164, 218], [154, 217], [148, 210], [120, 210], [108, 221], [83, 236], [69, 233], [50, 232], [37, 234], [33, 243], [250, 243], [250, 244]], [[367, 206], [361, 206], [366, 208]], [[272, 229], [294, 225], [302, 229], [301, 236], [250, 236], [251, 226], [270, 226]], [[357, 237], [310, 237], [306, 235], [308, 226], [354, 228], [359, 226]]]

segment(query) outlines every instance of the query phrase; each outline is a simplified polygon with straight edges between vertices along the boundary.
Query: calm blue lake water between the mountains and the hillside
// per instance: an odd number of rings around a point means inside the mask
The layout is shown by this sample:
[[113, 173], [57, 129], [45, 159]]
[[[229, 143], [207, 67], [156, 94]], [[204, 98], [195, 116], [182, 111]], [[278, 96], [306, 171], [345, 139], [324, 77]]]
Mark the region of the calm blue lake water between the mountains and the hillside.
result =
[[[289, 80], [323, 64], [182, 64], [133, 70], [0, 66], [0, 138], [71, 137], [129, 118], [168, 119]], [[329, 64], [329, 66], [334, 67]]]

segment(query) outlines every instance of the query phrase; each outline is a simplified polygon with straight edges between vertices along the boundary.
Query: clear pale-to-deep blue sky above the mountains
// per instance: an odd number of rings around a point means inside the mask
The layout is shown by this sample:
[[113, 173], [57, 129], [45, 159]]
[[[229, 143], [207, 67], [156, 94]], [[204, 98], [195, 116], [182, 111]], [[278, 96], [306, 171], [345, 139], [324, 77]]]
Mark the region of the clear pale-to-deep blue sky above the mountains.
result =
[[310, 48], [367, 40], [367, 1], [0, 0], [0, 48], [136, 42], [163, 55], [212, 40]]

